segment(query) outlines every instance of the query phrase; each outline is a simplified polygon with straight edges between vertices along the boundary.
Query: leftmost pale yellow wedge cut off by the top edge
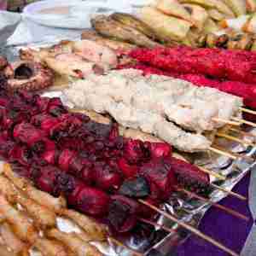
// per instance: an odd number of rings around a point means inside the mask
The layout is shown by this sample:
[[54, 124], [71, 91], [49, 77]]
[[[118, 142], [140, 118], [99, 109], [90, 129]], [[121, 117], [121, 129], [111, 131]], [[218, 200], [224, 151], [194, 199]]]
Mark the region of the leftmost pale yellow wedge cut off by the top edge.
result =
[[178, 3], [177, 0], [158, 0], [156, 3], [156, 9], [160, 10], [166, 15], [187, 20], [191, 24], [195, 23], [195, 20], [192, 19], [189, 11], [185, 9], [182, 4]]

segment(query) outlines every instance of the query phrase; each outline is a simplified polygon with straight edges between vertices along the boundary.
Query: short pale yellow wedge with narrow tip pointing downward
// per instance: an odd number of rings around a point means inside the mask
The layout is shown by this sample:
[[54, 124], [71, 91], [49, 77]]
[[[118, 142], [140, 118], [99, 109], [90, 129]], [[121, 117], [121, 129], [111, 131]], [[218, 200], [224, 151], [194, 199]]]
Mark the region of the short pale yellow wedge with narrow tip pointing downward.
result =
[[183, 7], [189, 12], [192, 20], [195, 21], [195, 26], [201, 31], [209, 15], [207, 10], [200, 5], [185, 3]]

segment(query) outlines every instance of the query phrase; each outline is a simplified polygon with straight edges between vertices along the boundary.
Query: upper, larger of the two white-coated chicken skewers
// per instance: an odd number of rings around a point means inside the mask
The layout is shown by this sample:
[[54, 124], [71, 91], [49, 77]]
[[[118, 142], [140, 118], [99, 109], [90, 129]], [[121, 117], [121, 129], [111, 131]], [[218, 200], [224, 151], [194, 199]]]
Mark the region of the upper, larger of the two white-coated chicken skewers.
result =
[[157, 113], [189, 131], [213, 131], [224, 126], [215, 118], [230, 120], [241, 114], [240, 97], [179, 79], [158, 75], [145, 78], [131, 69], [113, 71], [107, 78], [90, 76], [87, 81], [74, 87], [88, 95], [109, 96], [114, 102]]

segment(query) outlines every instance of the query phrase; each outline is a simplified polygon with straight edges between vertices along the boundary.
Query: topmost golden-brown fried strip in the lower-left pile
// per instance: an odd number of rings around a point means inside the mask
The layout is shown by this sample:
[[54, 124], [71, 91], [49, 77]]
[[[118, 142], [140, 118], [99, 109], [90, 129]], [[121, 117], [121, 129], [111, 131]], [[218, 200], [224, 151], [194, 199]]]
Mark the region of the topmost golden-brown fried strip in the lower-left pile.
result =
[[48, 207], [54, 212], [58, 212], [62, 208], [67, 207], [67, 202], [63, 197], [55, 198], [48, 193], [34, 188], [26, 178], [19, 177], [15, 172], [13, 172], [9, 164], [4, 164], [3, 173], [18, 189], [21, 189], [26, 196], [31, 198], [33, 201], [36, 201], [39, 205]]

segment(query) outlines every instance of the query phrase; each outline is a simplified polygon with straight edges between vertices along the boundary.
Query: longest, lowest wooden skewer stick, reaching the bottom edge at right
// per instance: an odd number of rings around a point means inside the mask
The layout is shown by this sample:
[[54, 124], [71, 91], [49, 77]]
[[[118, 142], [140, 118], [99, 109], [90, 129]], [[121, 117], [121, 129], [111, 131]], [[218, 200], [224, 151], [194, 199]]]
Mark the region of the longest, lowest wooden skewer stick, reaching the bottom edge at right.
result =
[[159, 208], [154, 207], [153, 205], [151, 205], [147, 201], [143, 201], [142, 199], [139, 199], [138, 201], [140, 203], [142, 203], [144, 206], [147, 206], [147, 207], [151, 208], [152, 210], [154, 210], [155, 212], [158, 212], [158, 213], [162, 214], [166, 218], [171, 219], [173, 222], [177, 223], [178, 225], [180, 225], [184, 229], [189, 230], [190, 232], [192, 232], [196, 236], [199, 236], [202, 239], [204, 239], [205, 241], [208, 241], [208, 242], [212, 243], [214, 246], [220, 248], [224, 252], [229, 253], [232, 256], [239, 256], [239, 254], [237, 254], [234, 251], [230, 250], [230, 248], [225, 247], [223, 244], [221, 244], [220, 242], [214, 240], [212, 237], [203, 234], [200, 230], [195, 229], [192, 225], [183, 223], [181, 220], [175, 218], [174, 216], [172, 216], [171, 214], [168, 214], [167, 212], [161, 211]]

